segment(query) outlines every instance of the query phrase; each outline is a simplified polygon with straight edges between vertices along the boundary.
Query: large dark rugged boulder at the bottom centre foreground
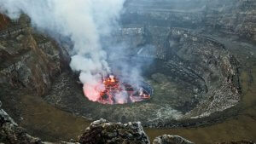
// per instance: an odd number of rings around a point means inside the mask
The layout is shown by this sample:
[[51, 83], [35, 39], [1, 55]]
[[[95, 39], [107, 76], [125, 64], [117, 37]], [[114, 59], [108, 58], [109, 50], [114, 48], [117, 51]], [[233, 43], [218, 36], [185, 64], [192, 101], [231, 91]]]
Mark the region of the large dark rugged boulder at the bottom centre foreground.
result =
[[121, 124], [109, 123], [105, 119], [90, 124], [80, 136], [81, 144], [149, 144], [148, 135], [140, 122]]

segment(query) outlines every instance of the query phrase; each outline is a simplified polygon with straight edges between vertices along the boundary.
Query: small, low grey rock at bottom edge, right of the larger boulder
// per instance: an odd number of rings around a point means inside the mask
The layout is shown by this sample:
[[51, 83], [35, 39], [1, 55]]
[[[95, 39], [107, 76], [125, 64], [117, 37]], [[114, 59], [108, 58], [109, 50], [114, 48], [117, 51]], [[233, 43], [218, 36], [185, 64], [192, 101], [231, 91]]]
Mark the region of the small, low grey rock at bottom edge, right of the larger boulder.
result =
[[153, 144], [194, 144], [178, 135], [160, 135], [156, 137]]

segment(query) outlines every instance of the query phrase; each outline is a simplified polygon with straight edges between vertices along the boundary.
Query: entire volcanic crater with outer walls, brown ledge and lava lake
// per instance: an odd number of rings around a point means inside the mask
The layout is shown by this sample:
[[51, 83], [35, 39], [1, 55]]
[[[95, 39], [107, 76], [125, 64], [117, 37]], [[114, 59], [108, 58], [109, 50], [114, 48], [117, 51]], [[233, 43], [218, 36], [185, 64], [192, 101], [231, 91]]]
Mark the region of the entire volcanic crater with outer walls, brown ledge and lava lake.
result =
[[126, 1], [119, 26], [100, 36], [111, 71], [102, 74], [105, 88], [96, 99], [72, 70], [70, 35], [38, 32], [26, 14], [17, 20], [0, 14], [0, 141], [19, 143], [15, 122], [43, 141], [68, 141], [100, 118], [140, 121], [151, 138], [255, 140], [255, 2]]

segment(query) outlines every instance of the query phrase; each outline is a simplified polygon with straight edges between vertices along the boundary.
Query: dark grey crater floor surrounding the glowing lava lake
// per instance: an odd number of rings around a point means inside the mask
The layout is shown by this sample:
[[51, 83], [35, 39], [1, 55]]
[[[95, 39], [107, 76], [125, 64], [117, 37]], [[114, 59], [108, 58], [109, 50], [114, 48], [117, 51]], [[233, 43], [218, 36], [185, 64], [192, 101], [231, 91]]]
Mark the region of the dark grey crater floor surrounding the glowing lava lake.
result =
[[152, 61], [142, 67], [145, 70], [143, 80], [154, 89], [148, 101], [121, 105], [89, 101], [83, 94], [77, 76], [70, 72], [63, 72], [56, 78], [44, 100], [93, 120], [106, 118], [113, 122], [141, 121], [143, 125], [165, 126], [173, 120], [186, 119], [187, 112], [194, 109], [199, 101], [207, 99], [203, 96], [207, 92], [204, 81], [192, 72], [185, 71], [184, 67], [173, 64], [173, 61]]

